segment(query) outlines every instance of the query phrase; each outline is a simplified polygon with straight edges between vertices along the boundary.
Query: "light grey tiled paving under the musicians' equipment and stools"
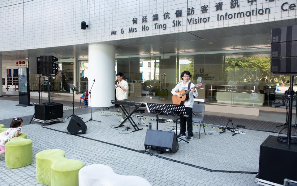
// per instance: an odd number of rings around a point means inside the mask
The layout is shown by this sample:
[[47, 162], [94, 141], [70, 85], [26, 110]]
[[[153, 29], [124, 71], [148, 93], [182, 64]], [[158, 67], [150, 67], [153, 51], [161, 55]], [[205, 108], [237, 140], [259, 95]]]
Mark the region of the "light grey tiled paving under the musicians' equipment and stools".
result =
[[[41, 185], [36, 182], [35, 154], [49, 148], [62, 149], [65, 151], [66, 157], [78, 159], [85, 165], [101, 163], [111, 166], [116, 173], [121, 175], [144, 177], [152, 185], [256, 185], [253, 183], [255, 174], [210, 172], [194, 166], [212, 170], [257, 172], [260, 144], [268, 135], [277, 135], [254, 130], [244, 130], [247, 132], [246, 134], [235, 136], [232, 136], [230, 132], [219, 135], [220, 130], [216, 127], [205, 127], [207, 135], [201, 134], [198, 139], [199, 127], [194, 126], [194, 139], [189, 144], [183, 141], [179, 142], [177, 153], [157, 154], [156, 151], [151, 151], [154, 155], [150, 156], [140, 153], [144, 150], [147, 127], [139, 125], [144, 129], [136, 132], [131, 132], [132, 127], [129, 131], [124, 131], [126, 126], [114, 129], [119, 125], [120, 117], [117, 116], [117, 112], [94, 110], [93, 119], [99, 120], [101, 123], [87, 122], [87, 133], [76, 136], [64, 133], [69, 119], [65, 119], [64, 123], [44, 127], [36, 122], [28, 124], [28, 118], [32, 117], [30, 109], [33, 107], [17, 107], [16, 104], [17, 101], [0, 99], [0, 118], [2, 119], [0, 123], [9, 126], [12, 117], [26, 118], [23, 131], [28, 134], [29, 139], [33, 140], [33, 163], [19, 169], [8, 169], [5, 167], [5, 159], [1, 156], [1, 186]], [[69, 105], [67, 106], [69, 107]], [[65, 107], [64, 112], [64, 117], [66, 117], [71, 115], [72, 110]], [[75, 114], [83, 117], [84, 121], [90, 118], [90, 110], [87, 108], [77, 108]], [[146, 118], [149, 119], [145, 122], [152, 122], [153, 129], [155, 129], [156, 122], [152, 120], [154, 117]], [[137, 118], [134, 120], [136, 121]], [[213, 123], [205, 122], [205, 124], [215, 126]], [[129, 125], [129, 123], [126, 122], [125, 125]], [[159, 124], [159, 129], [165, 131], [169, 131], [173, 127], [173, 123]]]

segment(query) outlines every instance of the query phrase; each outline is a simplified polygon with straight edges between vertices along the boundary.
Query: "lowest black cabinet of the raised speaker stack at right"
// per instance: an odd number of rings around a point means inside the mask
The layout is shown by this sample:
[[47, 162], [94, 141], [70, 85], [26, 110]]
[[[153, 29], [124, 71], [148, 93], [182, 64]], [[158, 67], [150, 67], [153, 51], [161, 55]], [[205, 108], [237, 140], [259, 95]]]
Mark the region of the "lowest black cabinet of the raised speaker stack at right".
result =
[[273, 75], [296, 75], [297, 57], [271, 58], [270, 68]]

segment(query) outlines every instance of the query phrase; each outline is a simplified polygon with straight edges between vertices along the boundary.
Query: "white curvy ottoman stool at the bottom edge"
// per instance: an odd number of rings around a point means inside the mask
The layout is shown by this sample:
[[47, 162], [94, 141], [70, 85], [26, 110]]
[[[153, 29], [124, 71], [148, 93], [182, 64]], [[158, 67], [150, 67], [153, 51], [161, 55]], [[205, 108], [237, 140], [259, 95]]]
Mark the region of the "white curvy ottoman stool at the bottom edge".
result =
[[79, 186], [151, 186], [139, 176], [125, 176], [114, 173], [112, 168], [103, 164], [84, 166], [78, 173]]

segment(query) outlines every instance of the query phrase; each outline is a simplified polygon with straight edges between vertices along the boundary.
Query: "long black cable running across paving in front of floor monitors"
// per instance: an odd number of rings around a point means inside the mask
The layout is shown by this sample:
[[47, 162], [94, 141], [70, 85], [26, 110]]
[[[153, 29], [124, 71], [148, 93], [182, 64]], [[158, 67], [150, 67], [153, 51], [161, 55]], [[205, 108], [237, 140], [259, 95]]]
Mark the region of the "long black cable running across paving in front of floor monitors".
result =
[[[101, 142], [101, 143], [104, 143], [104, 144], [113, 145], [113, 146], [116, 146], [116, 147], [119, 147], [119, 148], [124, 148], [124, 149], [127, 149], [127, 150], [131, 150], [131, 151], [137, 152], [137, 153], [148, 153], [145, 150], [136, 150], [136, 149], [133, 149], [133, 148], [124, 147], [122, 145], [117, 145], [117, 144], [113, 144], [113, 143], [101, 141], [101, 140], [98, 140], [98, 139], [88, 138], [88, 137], [84, 137], [84, 136], [81, 136], [81, 135], [78, 135], [78, 134], [72, 134], [72, 133], [69, 133], [69, 132], [66, 132], [66, 131], [65, 132], [64, 131], [59, 131], [59, 130], [56, 130], [56, 129], [45, 127], [44, 125], [42, 125], [42, 128], [46, 128], [46, 129], [50, 129], [50, 130], [53, 130], [53, 131], [58, 131], [58, 132], [66, 133], [66, 134], [75, 135], [75, 136], [78, 136], [78, 137], [81, 137], [81, 138], [84, 138], [84, 139], [90, 139], [90, 140]], [[180, 163], [180, 164], [183, 164], [183, 165], [192, 166], [192, 167], [195, 167], [195, 168], [198, 168], [198, 169], [202, 169], [202, 170], [206, 170], [206, 171], [210, 171], [210, 172], [240, 173], [240, 174], [258, 174], [258, 172], [249, 172], [249, 171], [212, 170], [212, 169], [204, 168], [204, 167], [201, 167], [201, 166], [192, 165], [192, 164], [189, 164], [189, 163], [186, 163], [186, 162], [181, 162], [181, 161], [178, 161], [178, 160], [174, 160], [174, 159], [171, 159], [171, 158], [167, 158], [167, 157], [155, 155], [153, 153], [150, 153], [150, 155], [151, 156], [156, 156], [156, 157], [159, 157], [159, 158], [162, 158], [162, 159], [171, 161], [171, 162], [176, 162], [176, 163]]]

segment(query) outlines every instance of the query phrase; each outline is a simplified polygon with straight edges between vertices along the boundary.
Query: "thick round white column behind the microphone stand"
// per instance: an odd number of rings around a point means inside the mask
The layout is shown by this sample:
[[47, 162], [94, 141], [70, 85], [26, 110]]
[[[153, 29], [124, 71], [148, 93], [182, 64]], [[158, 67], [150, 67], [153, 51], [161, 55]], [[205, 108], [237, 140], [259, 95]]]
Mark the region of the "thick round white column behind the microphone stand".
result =
[[[110, 107], [110, 100], [114, 100], [115, 46], [105, 44], [89, 45], [89, 77], [90, 91], [95, 79], [92, 92], [92, 107]], [[89, 96], [89, 106], [90, 106]]]

